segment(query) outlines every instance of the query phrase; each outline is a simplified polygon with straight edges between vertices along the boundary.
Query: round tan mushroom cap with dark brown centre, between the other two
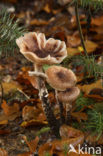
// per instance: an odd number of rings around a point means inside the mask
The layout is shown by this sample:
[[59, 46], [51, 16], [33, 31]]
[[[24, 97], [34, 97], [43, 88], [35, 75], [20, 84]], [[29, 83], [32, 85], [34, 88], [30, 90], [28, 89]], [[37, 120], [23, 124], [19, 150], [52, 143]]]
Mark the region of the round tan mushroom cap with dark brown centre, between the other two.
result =
[[51, 87], [59, 91], [73, 87], [76, 84], [76, 76], [70, 69], [60, 66], [51, 66], [46, 70], [47, 82]]

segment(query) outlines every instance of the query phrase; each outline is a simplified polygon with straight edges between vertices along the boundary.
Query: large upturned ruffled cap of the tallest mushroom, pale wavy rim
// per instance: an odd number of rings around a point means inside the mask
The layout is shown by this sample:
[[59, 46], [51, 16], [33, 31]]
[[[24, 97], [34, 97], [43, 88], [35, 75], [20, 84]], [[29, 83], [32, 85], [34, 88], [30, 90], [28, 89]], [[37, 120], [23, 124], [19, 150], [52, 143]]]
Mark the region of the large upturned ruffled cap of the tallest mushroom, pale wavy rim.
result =
[[58, 64], [67, 56], [64, 41], [49, 38], [43, 33], [29, 32], [16, 40], [20, 52], [37, 64]]

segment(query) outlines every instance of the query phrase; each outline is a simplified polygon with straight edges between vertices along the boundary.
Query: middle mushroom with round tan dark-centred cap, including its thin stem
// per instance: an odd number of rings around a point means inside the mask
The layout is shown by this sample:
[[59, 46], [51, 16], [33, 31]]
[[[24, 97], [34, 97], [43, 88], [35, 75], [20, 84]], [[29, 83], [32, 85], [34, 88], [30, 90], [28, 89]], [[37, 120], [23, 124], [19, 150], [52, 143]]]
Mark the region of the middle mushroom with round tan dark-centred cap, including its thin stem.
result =
[[[61, 66], [51, 66], [50, 68], [48, 68], [46, 70], [45, 73], [47, 76], [47, 82], [50, 84], [51, 87], [53, 87], [55, 89], [56, 100], [60, 107], [60, 119], [61, 119], [61, 123], [63, 123], [64, 117], [63, 117], [63, 104], [62, 103], [67, 103], [67, 102], [69, 103], [69, 101], [63, 101], [62, 100], [63, 97], [62, 97], [62, 99], [58, 98], [58, 97], [60, 97], [60, 96], [58, 96], [58, 94], [61, 94], [63, 91], [64, 91], [63, 93], [65, 93], [65, 90], [67, 90], [68, 88], [74, 87], [76, 84], [76, 81], [77, 81], [76, 76], [72, 72], [72, 70], [66, 69]], [[73, 89], [73, 91], [74, 91], [74, 89]], [[74, 98], [75, 98], [75, 96], [74, 96]], [[67, 106], [68, 106], [68, 104], [67, 104]], [[67, 111], [68, 111], [68, 109], [67, 109]]]

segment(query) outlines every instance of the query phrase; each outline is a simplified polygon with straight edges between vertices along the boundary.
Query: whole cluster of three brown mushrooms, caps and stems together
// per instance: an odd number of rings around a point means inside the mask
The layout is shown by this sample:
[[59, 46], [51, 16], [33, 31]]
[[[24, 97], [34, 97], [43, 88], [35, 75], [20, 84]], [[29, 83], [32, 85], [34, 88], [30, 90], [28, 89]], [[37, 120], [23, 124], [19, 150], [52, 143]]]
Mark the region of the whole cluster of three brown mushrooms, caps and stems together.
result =
[[[66, 118], [68, 118], [72, 102], [77, 98], [80, 91], [75, 87], [77, 82], [75, 74], [70, 69], [54, 65], [60, 64], [67, 56], [66, 44], [64, 41], [53, 38], [46, 39], [43, 33], [36, 32], [24, 34], [16, 40], [16, 43], [25, 58], [33, 63], [34, 71], [30, 71], [29, 74], [37, 78], [39, 97], [48, 124], [55, 136], [59, 137], [60, 123], [56, 119], [48, 100], [45, 80], [55, 89], [61, 119], [62, 103], [66, 105]], [[44, 64], [52, 65], [45, 73], [43, 71]]]

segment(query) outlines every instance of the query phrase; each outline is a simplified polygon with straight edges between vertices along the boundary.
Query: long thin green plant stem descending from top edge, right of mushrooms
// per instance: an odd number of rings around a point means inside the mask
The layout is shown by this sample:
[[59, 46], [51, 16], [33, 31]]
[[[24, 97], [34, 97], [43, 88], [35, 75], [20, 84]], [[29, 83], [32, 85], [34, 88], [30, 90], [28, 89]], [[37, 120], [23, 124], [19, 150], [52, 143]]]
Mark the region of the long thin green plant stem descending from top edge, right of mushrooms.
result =
[[88, 57], [88, 53], [87, 53], [87, 50], [86, 50], [86, 47], [85, 47], [85, 44], [84, 44], [84, 37], [83, 37], [83, 33], [82, 33], [80, 19], [79, 19], [78, 0], [75, 1], [75, 15], [76, 15], [76, 20], [77, 20], [79, 35], [80, 35], [80, 39], [81, 39], [81, 44], [82, 44], [82, 47], [84, 49], [84, 53], [85, 53], [86, 57]]

